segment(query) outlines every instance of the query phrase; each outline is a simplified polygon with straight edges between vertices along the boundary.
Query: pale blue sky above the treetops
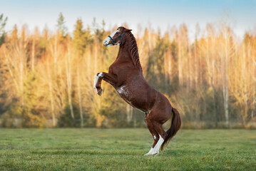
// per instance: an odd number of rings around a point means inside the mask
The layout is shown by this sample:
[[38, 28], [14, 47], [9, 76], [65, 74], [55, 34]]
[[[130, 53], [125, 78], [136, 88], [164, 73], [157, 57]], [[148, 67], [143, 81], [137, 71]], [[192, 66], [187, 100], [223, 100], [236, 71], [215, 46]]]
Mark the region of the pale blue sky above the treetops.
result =
[[238, 36], [256, 30], [256, 0], [0, 0], [0, 14], [8, 17], [6, 31], [11, 31], [14, 24], [18, 28], [27, 24], [30, 31], [36, 26], [55, 31], [60, 12], [69, 32], [77, 19], [91, 26], [93, 18], [99, 24], [104, 20], [106, 29], [127, 23], [133, 31], [138, 31], [138, 24], [167, 31], [184, 23], [193, 34], [196, 24], [204, 29], [208, 23], [217, 25], [223, 20]]

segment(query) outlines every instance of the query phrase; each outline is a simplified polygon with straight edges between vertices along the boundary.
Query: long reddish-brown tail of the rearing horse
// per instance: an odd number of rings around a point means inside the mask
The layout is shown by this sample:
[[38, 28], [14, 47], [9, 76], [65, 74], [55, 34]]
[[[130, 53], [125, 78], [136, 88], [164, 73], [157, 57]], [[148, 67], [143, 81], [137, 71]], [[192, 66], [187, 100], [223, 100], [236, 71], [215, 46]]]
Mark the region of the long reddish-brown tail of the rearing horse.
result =
[[161, 145], [162, 151], [163, 151], [163, 147], [165, 145], [168, 145], [168, 142], [170, 141], [170, 139], [172, 139], [173, 136], [178, 132], [178, 130], [180, 130], [180, 126], [181, 126], [180, 113], [178, 113], [178, 110], [175, 108], [172, 108], [172, 112], [173, 112], [172, 125], [170, 125], [169, 130], [166, 132], [167, 137], [165, 138], [165, 140], [163, 141], [163, 144]]

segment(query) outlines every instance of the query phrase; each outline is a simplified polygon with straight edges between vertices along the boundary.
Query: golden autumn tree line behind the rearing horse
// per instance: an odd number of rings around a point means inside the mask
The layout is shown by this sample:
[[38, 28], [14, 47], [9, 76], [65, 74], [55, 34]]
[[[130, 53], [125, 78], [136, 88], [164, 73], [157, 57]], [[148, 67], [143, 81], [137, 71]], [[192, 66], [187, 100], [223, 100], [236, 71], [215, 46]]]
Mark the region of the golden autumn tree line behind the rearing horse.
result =
[[[108, 83], [101, 97], [93, 90], [94, 75], [117, 56], [102, 41], [118, 26], [77, 19], [68, 33], [60, 14], [54, 32], [14, 25], [6, 33], [7, 21], [1, 14], [1, 127], [145, 127], [143, 113]], [[164, 33], [138, 25], [145, 79], [178, 108], [183, 128], [255, 128], [255, 34], [240, 40], [225, 23], [195, 30], [190, 38], [185, 24]]]

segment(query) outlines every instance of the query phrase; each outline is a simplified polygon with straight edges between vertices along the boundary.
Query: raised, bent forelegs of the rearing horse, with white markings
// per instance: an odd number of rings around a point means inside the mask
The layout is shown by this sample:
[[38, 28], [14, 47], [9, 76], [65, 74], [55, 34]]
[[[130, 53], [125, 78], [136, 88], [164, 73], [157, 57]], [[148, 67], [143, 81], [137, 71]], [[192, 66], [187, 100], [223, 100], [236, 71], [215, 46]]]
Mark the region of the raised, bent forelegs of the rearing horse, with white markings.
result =
[[101, 95], [103, 90], [101, 88], [101, 81], [104, 80], [108, 83], [110, 83], [112, 86], [116, 85], [117, 81], [117, 77], [111, 73], [97, 73], [94, 76], [94, 85], [93, 88], [96, 90], [96, 93], [98, 93], [98, 95]]

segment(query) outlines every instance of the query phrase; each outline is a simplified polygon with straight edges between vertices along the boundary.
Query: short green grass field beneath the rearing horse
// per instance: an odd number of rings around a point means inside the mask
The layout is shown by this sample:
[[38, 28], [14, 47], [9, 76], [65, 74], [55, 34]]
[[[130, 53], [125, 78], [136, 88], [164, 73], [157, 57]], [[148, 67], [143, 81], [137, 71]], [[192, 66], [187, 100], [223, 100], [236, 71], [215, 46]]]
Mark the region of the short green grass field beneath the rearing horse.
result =
[[0, 129], [0, 170], [256, 170], [256, 130], [180, 130], [143, 156], [146, 129]]

